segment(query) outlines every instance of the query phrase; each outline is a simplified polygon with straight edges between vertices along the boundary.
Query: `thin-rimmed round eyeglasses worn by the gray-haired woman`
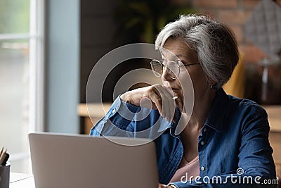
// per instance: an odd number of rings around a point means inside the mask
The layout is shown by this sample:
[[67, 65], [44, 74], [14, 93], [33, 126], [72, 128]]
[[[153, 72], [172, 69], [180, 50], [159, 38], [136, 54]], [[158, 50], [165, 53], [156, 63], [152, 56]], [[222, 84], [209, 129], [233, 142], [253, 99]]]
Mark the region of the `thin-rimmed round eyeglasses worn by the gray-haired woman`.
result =
[[198, 64], [200, 64], [200, 63], [192, 63], [192, 64], [188, 64], [188, 65], [183, 65], [183, 63], [179, 60], [161, 62], [156, 59], [153, 59], [150, 62], [152, 72], [156, 77], [161, 77], [164, 72], [164, 68], [166, 68], [167, 73], [168, 73], [169, 77], [171, 77], [171, 79], [176, 79], [180, 75], [181, 67], [190, 66], [190, 65], [198, 65]]

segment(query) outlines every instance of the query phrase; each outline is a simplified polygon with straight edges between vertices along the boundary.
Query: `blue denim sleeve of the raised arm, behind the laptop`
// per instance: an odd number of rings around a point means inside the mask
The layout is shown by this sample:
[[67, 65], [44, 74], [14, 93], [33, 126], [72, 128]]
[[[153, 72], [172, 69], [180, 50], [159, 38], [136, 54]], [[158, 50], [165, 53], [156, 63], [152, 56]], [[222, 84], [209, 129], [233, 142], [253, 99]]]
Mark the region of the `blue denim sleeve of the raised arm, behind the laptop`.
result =
[[157, 109], [134, 106], [118, 96], [105, 116], [92, 127], [90, 135], [151, 138], [169, 126]]

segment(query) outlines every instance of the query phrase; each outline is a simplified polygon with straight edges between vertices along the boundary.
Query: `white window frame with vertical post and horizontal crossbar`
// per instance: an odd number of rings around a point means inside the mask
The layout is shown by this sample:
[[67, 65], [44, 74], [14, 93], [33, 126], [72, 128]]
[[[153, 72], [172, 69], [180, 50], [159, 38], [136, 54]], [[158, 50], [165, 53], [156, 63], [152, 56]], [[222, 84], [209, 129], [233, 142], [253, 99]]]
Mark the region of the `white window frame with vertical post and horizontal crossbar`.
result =
[[[8, 39], [29, 39], [29, 132], [44, 131], [45, 0], [30, 0], [29, 33], [0, 33], [0, 40]], [[13, 153], [10, 161], [26, 158], [30, 151]]]

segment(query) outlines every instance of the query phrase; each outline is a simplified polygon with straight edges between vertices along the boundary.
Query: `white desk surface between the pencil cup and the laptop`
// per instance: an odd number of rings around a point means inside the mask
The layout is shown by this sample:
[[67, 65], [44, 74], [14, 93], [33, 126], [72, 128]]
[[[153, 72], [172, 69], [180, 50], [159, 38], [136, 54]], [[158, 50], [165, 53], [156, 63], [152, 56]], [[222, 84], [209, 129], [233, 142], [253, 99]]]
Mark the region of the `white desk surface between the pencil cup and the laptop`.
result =
[[10, 173], [10, 188], [35, 188], [33, 175]]

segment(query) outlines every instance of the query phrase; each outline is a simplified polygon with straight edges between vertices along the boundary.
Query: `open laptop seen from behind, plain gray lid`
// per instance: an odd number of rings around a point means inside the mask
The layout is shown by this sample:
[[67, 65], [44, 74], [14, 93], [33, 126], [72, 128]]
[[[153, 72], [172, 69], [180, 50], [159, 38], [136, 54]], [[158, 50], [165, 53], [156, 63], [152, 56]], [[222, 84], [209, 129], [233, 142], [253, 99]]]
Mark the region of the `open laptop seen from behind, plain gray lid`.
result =
[[155, 144], [148, 139], [46, 132], [29, 139], [37, 188], [158, 187]]

